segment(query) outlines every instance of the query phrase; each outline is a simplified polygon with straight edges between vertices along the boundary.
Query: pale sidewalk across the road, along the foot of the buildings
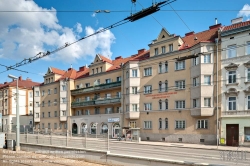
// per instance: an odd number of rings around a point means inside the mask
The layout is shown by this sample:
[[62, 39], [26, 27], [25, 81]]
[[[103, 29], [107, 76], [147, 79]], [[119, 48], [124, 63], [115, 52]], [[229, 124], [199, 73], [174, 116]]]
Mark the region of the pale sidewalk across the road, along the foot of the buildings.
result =
[[191, 148], [191, 149], [207, 149], [207, 150], [229, 150], [229, 151], [246, 151], [250, 153], [250, 147], [235, 147], [235, 146], [217, 146], [216, 145], [204, 145], [204, 144], [188, 144], [188, 143], [169, 143], [169, 142], [151, 142], [151, 141], [141, 141], [141, 142], [131, 142], [131, 141], [117, 141], [111, 140], [111, 142], [119, 143], [130, 143], [139, 145], [151, 145], [151, 146], [167, 146], [167, 147], [177, 147], [177, 148]]

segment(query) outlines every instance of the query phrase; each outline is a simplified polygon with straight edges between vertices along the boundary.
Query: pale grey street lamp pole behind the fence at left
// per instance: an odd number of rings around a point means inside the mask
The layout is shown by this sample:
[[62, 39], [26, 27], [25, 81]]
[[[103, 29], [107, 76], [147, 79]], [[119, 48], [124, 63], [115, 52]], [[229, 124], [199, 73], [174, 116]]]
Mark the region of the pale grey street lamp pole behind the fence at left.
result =
[[13, 75], [8, 75], [9, 78], [13, 80], [16, 79], [16, 151], [20, 150], [20, 122], [19, 122], [19, 94], [18, 94], [18, 77]]

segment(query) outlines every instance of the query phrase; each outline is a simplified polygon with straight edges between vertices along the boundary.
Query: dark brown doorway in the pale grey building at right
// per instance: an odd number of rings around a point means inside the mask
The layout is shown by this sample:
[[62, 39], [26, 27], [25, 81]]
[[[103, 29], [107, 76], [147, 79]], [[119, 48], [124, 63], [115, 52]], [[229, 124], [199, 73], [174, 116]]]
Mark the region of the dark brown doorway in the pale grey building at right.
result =
[[239, 145], [239, 124], [226, 124], [227, 146]]

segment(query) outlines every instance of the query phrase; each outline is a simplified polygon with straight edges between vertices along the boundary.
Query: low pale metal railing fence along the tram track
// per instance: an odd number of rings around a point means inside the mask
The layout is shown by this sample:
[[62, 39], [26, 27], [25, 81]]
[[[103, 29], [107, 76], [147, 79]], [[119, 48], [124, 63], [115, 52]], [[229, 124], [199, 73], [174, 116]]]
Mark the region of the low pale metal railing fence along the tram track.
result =
[[[16, 140], [16, 133], [7, 133], [7, 139]], [[20, 143], [51, 145], [61, 147], [83, 148], [93, 150], [109, 150], [108, 133], [101, 135], [72, 134], [71, 132], [25, 132], [20, 134]]]

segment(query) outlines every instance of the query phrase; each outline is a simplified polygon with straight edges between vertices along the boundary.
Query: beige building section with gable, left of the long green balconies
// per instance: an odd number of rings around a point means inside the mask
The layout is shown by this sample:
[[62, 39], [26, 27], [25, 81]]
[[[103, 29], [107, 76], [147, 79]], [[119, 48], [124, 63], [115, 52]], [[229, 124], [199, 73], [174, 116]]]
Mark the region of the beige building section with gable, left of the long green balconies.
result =
[[49, 67], [44, 82], [34, 86], [35, 129], [44, 132], [65, 132], [70, 116], [70, 90], [74, 87], [76, 70]]

